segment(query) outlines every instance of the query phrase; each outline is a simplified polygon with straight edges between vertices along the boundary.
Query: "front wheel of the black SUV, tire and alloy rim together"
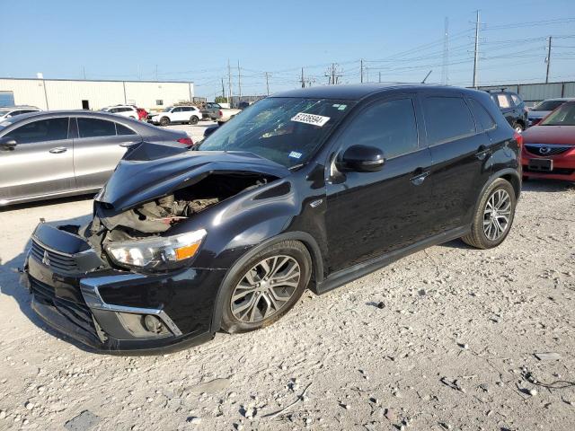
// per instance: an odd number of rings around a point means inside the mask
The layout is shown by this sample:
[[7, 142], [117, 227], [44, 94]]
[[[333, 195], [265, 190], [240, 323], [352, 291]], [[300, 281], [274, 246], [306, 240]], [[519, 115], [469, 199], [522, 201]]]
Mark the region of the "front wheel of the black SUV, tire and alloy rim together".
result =
[[[261, 262], [267, 262], [270, 270], [266, 271]], [[273, 274], [274, 269], [275, 275], [267, 279], [265, 274]], [[312, 259], [301, 242], [284, 241], [271, 245], [232, 271], [233, 277], [228, 277], [223, 286], [220, 327], [229, 333], [248, 332], [278, 321], [297, 303], [309, 283]], [[285, 281], [279, 281], [282, 279]], [[278, 280], [275, 286], [274, 280]]]

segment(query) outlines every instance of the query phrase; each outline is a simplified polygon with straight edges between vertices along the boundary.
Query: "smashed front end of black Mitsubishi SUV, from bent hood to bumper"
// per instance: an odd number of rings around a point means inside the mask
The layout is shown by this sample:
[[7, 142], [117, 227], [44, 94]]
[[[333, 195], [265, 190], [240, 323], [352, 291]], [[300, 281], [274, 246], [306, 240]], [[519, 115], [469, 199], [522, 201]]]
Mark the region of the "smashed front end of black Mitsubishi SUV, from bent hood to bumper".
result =
[[25, 269], [34, 310], [82, 344], [109, 352], [213, 337], [215, 297], [207, 287], [219, 286], [226, 270], [195, 268], [209, 235], [197, 217], [287, 173], [252, 154], [121, 161], [94, 201], [90, 224], [40, 224], [33, 234]]

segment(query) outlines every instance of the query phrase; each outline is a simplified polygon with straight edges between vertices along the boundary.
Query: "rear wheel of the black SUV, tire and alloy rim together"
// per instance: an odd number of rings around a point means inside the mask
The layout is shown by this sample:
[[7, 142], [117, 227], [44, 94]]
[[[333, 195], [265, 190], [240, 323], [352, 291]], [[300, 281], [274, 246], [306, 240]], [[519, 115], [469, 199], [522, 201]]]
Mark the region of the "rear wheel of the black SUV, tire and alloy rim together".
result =
[[[501, 197], [503, 197], [503, 200], [499, 207], [498, 198]], [[516, 203], [515, 189], [513, 189], [509, 181], [502, 178], [494, 180], [483, 192], [479, 205], [475, 210], [471, 233], [462, 237], [462, 240], [477, 249], [491, 249], [500, 245], [511, 230], [513, 219], [515, 218]], [[493, 204], [496, 207], [495, 212], [490, 211]], [[495, 214], [494, 217], [493, 214]], [[496, 219], [497, 223], [492, 222], [493, 219]], [[503, 227], [506, 219], [507, 223]], [[500, 228], [502, 229], [501, 232]]]

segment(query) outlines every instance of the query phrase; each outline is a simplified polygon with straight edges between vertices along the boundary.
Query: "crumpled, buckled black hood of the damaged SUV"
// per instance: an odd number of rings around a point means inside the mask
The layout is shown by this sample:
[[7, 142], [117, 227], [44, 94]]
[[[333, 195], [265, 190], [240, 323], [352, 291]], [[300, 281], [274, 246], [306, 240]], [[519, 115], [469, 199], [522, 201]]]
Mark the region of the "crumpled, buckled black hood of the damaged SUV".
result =
[[256, 172], [284, 178], [288, 168], [256, 154], [245, 152], [187, 151], [154, 160], [130, 160], [130, 154], [116, 170], [95, 200], [116, 211], [173, 193], [195, 184], [211, 172]]

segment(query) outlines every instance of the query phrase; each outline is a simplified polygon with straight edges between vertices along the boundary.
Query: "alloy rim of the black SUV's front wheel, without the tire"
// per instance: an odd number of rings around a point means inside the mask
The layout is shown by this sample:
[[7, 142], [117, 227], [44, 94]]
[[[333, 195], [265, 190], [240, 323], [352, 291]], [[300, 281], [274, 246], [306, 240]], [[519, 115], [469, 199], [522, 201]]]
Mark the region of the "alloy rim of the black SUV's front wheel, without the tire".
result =
[[230, 301], [232, 314], [248, 323], [269, 318], [296, 293], [300, 278], [296, 259], [285, 255], [262, 259], [235, 286]]

